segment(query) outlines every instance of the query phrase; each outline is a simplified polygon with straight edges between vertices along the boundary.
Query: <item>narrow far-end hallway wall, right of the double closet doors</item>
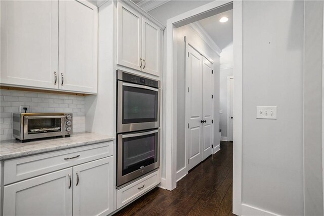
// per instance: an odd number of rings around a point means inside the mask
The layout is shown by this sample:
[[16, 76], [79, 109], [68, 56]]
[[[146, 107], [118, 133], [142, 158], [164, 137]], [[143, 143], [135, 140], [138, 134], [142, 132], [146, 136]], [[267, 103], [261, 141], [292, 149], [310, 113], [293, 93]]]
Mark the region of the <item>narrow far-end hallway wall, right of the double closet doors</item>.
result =
[[227, 77], [233, 75], [233, 44], [225, 47], [220, 54], [219, 72], [219, 127], [222, 130], [222, 137], [227, 137]]

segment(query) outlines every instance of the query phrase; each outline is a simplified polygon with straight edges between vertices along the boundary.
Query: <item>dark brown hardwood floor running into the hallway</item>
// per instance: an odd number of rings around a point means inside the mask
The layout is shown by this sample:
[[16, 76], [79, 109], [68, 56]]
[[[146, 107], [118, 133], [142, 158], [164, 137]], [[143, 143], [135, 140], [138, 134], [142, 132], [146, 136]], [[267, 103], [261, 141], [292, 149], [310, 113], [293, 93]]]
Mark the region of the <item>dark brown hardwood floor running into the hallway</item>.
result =
[[155, 188], [114, 215], [232, 215], [233, 143], [189, 171], [173, 191]]

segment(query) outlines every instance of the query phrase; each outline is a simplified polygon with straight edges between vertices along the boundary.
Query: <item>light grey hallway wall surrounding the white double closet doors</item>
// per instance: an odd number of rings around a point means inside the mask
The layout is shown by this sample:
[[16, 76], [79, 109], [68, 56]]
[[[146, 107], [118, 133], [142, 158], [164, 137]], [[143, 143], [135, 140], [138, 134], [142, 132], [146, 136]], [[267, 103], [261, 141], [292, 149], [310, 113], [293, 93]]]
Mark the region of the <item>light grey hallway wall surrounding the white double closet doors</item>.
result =
[[[200, 36], [190, 27], [190, 25], [185, 25], [175, 29], [175, 39], [176, 39], [176, 56], [177, 56], [177, 171], [185, 167], [187, 162], [185, 160], [185, 41], [184, 36], [186, 36], [187, 41], [194, 44], [195, 48], [200, 52], [205, 53], [209, 58], [215, 61], [217, 64], [214, 67], [219, 67], [218, 59], [219, 56], [214, 52], [206, 42], [200, 38]], [[219, 73], [214, 73], [215, 77], [215, 92], [214, 95], [219, 95]], [[214, 110], [219, 110], [219, 99], [215, 97], [214, 100], [217, 101]], [[219, 113], [215, 112], [214, 122], [219, 122]], [[215, 131], [219, 131], [219, 124], [214, 124]], [[219, 133], [215, 133], [216, 143], [214, 146], [219, 145]]]

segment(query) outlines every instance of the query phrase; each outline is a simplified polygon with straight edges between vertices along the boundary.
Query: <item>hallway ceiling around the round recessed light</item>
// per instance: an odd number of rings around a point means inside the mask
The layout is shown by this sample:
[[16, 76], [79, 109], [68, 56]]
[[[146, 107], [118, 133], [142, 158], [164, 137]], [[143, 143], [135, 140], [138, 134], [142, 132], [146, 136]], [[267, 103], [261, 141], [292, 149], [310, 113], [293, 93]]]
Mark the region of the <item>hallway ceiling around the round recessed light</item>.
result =
[[[228, 21], [219, 22], [222, 17], [227, 17]], [[203, 27], [221, 50], [233, 42], [233, 10], [216, 14], [196, 23]]]

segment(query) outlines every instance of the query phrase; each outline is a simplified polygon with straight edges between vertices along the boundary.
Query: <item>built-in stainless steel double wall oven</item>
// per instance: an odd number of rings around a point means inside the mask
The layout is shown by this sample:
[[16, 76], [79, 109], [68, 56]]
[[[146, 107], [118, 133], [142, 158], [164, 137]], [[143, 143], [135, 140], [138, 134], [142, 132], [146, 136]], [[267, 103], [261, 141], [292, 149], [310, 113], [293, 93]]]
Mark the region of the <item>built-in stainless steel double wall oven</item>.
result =
[[160, 81], [117, 70], [117, 187], [159, 167]]

